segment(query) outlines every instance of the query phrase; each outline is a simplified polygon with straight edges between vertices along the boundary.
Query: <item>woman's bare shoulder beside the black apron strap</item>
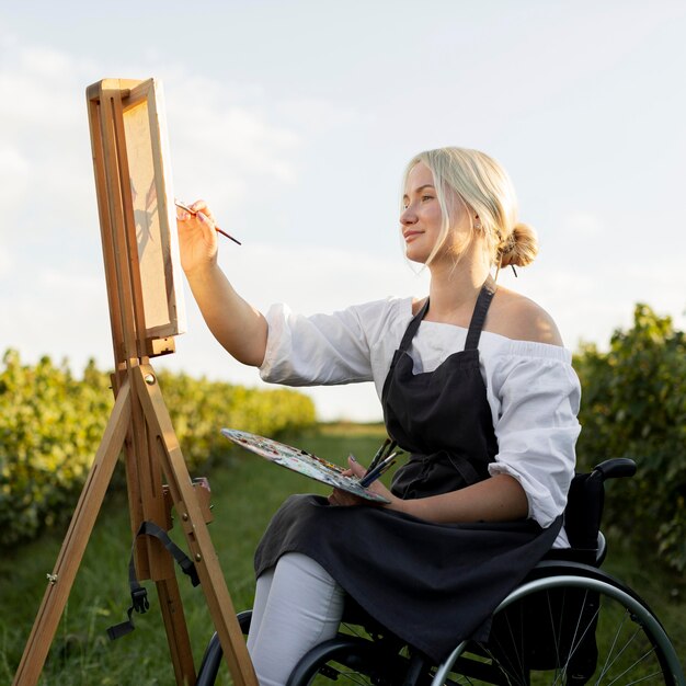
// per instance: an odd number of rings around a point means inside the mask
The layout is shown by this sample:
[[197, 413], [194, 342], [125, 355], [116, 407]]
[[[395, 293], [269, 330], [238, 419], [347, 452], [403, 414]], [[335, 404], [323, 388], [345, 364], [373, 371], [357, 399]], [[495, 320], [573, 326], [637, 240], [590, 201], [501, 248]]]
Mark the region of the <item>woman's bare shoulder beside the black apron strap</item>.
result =
[[534, 300], [507, 288], [498, 289], [489, 310], [485, 331], [515, 341], [563, 345], [552, 317]]

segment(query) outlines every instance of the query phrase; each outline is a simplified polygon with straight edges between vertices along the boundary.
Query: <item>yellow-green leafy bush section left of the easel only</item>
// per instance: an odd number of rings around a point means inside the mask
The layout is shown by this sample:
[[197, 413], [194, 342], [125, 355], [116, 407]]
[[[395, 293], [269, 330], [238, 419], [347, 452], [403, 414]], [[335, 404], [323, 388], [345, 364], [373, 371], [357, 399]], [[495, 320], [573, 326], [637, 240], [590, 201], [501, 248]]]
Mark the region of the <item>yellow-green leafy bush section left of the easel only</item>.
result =
[[23, 366], [15, 351], [0, 375], [0, 544], [64, 521], [85, 480], [112, 393], [89, 363], [83, 381], [43, 357]]

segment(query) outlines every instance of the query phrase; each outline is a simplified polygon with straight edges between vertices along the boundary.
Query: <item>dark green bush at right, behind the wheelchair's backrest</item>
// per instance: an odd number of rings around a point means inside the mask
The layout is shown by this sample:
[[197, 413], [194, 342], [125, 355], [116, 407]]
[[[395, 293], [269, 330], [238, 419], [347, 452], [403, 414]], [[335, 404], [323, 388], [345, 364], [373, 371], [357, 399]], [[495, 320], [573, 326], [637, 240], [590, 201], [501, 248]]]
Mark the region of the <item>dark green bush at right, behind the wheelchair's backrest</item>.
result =
[[606, 521], [643, 552], [686, 569], [686, 340], [670, 317], [637, 305], [633, 328], [609, 351], [584, 346], [574, 364], [583, 397], [583, 468], [630, 457], [638, 473], [613, 492]]

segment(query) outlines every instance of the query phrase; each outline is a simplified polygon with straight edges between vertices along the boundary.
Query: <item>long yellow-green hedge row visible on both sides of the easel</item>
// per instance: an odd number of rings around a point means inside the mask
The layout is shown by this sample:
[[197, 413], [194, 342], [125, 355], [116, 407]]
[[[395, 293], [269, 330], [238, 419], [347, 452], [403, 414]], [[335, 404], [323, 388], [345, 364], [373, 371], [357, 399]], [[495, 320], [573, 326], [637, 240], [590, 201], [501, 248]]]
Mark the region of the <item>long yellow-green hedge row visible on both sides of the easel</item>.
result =
[[[10, 350], [3, 363], [0, 547], [67, 521], [114, 405], [110, 377], [93, 362], [81, 379], [49, 357], [22, 365], [19, 353]], [[250, 390], [167, 371], [159, 378], [190, 470], [228, 454], [222, 426], [273, 436], [316, 421], [312, 401], [295, 391]]]

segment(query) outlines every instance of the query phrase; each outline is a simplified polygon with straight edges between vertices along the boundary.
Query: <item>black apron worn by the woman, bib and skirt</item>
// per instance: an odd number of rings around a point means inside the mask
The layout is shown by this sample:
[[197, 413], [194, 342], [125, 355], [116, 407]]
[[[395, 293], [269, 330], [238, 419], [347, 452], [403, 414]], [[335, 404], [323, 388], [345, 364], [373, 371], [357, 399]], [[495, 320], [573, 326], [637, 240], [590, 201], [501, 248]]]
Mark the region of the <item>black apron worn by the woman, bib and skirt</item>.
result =
[[[393, 355], [381, 401], [389, 436], [410, 453], [391, 485], [399, 498], [446, 493], [489, 477], [498, 441], [478, 343], [493, 294], [489, 279], [465, 350], [434, 371], [413, 374], [408, 353], [428, 300]], [[255, 572], [285, 552], [301, 552], [374, 619], [439, 662], [461, 640], [488, 637], [492, 611], [551, 548], [561, 522], [546, 529], [533, 519], [434, 524], [386, 507], [293, 495], [258, 546]]]

